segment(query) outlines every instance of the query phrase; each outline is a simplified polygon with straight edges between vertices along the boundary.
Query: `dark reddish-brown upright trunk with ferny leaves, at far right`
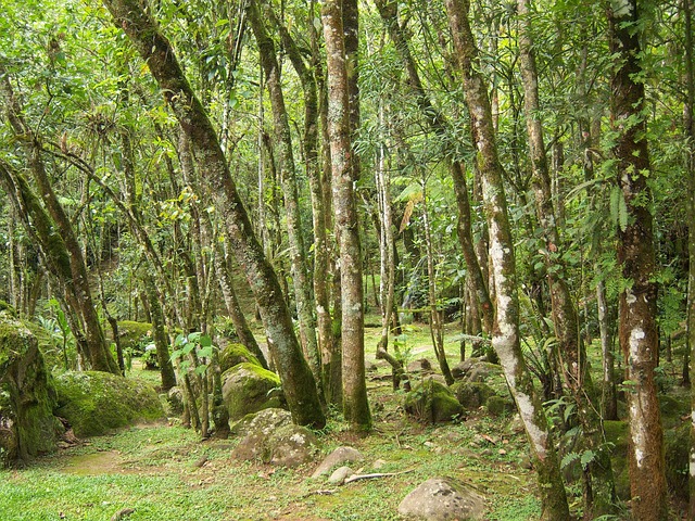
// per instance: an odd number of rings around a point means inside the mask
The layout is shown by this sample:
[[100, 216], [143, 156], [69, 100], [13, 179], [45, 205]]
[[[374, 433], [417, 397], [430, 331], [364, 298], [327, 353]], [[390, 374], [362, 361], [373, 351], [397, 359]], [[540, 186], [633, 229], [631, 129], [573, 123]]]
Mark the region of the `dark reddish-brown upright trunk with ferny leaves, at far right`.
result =
[[618, 264], [632, 283], [620, 293], [618, 322], [626, 359], [630, 412], [630, 488], [635, 519], [668, 518], [664, 431], [654, 380], [659, 351], [656, 325], [657, 284], [652, 200], [652, 174], [644, 118], [644, 84], [640, 82], [641, 47], [636, 0], [614, 2], [608, 11], [609, 45], [615, 56], [611, 122], [617, 134], [616, 180], [622, 190], [628, 224], [618, 232]]

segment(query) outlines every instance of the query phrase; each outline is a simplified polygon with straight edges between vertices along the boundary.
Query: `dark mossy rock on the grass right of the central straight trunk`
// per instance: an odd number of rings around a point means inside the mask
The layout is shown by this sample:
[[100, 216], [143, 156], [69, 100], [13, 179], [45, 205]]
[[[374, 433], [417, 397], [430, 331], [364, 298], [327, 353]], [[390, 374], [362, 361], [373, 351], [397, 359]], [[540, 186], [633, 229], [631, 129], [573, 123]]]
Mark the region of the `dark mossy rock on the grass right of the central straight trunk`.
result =
[[452, 390], [432, 379], [425, 380], [405, 396], [404, 408], [430, 423], [452, 421], [464, 414]]

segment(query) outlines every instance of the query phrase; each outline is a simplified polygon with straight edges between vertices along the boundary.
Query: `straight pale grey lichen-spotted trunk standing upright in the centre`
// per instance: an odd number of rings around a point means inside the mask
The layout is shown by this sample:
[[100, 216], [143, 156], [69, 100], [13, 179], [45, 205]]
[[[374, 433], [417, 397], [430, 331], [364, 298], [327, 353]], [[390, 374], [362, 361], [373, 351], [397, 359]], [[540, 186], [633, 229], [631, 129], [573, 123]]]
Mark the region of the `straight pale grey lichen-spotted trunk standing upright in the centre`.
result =
[[359, 219], [354, 193], [355, 154], [351, 148], [350, 87], [340, 0], [321, 10], [328, 78], [328, 131], [333, 207], [340, 246], [342, 288], [343, 416], [354, 430], [371, 429], [365, 381], [365, 338]]

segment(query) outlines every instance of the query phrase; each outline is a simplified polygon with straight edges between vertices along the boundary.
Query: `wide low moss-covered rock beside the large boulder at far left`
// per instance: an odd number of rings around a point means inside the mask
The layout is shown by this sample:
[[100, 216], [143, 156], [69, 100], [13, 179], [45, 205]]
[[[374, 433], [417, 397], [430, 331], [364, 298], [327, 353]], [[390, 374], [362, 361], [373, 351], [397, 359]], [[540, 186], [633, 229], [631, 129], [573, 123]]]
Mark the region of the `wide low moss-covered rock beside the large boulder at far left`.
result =
[[164, 418], [154, 389], [137, 380], [99, 371], [66, 372], [55, 379], [55, 416], [65, 418], [78, 437]]

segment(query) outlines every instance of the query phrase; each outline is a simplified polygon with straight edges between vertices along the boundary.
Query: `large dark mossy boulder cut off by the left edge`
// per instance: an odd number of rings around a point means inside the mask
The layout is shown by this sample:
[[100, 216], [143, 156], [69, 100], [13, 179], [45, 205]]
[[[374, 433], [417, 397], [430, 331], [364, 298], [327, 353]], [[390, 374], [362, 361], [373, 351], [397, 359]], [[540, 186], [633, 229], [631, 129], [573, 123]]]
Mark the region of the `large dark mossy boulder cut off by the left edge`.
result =
[[36, 336], [0, 313], [0, 466], [55, 449], [62, 433], [53, 416], [55, 391]]

